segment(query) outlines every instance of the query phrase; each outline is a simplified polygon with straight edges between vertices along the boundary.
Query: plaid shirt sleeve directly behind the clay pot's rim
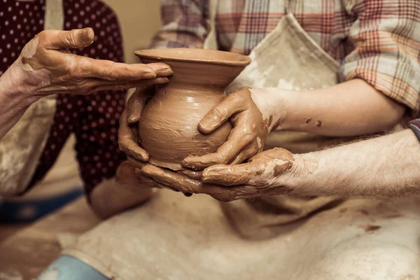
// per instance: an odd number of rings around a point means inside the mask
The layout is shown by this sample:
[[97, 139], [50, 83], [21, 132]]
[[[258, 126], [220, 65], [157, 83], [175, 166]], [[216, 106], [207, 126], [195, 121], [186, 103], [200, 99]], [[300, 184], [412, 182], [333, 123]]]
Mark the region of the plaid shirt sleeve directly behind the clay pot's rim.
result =
[[151, 48], [202, 48], [208, 34], [206, 3], [199, 0], [162, 0], [162, 28]]

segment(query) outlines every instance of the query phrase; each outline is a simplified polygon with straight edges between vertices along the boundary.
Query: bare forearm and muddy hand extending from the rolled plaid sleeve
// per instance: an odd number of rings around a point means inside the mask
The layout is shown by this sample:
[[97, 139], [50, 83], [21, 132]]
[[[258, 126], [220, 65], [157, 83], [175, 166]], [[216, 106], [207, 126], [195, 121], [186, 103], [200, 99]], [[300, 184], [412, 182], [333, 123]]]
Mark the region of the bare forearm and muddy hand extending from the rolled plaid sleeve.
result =
[[209, 134], [230, 120], [232, 133], [216, 153], [190, 156], [184, 167], [204, 169], [237, 164], [262, 151], [275, 129], [335, 137], [372, 134], [400, 121], [404, 107], [363, 80], [349, 80], [326, 89], [294, 92], [278, 88], [243, 87], [223, 100], [200, 121]]

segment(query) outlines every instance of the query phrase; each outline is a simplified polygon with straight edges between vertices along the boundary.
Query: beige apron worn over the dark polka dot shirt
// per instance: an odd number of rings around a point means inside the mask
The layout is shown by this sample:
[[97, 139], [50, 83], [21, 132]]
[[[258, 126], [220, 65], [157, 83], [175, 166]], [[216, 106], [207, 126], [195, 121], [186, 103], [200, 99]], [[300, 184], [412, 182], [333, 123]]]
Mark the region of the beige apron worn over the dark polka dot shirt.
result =
[[[45, 2], [44, 29], [63, 29], [62, 0]], [[45, 148], [55, 106], [55, 95], [38, 99], [0, 139], [0, 195], [19, 195], [27, 189]]]

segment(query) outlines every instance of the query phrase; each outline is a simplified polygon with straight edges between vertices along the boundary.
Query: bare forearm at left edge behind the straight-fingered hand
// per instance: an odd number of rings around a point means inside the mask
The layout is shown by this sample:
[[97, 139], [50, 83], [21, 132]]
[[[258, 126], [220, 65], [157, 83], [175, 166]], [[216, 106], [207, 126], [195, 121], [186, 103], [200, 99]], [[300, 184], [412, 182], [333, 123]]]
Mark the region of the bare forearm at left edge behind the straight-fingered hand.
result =
[[36, 97], [29, 97], [22, 93], [18, 85], [13, 83], [13, 66], [0, 77], [0, 139], [18, 123], [18, 120], [29, 106], [36, 101]]

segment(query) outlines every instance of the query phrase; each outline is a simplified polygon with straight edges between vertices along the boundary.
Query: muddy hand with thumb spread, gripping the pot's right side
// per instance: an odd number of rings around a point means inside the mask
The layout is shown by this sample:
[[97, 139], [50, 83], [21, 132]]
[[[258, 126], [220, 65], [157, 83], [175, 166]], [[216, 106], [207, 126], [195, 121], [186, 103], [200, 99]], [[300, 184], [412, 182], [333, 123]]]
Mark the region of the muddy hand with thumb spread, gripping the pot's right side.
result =
[[264, 118], [262, 109], [258, 108], [253, 99], [252, 89], [242, 87], [214, 106], [202, 118], [198, 130], [209, 134], [230, 121], [233, 129], [228, 140], [215, 153], [189, 156], [181, 165], [190, 169], [204, 169], [216, 164], [235, 165], [262, 151], [271, 123], [268, 118]]

